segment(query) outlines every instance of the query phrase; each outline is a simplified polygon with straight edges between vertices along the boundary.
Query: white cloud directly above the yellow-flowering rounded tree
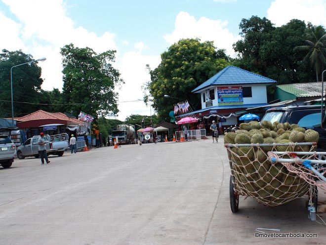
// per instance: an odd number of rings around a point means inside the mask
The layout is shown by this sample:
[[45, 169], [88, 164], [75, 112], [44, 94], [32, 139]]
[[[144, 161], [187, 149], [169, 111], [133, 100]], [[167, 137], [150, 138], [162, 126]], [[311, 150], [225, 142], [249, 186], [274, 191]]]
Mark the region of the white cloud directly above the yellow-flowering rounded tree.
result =
[[235, 56], [232, 48], [239, 37], [233, 35], [227, 29], [228, 22], [222, 20], [212, 20], [201, 17], [196, 20], [187, 12], [181, 11], [175, 19], [175, 28], [171, 34], [164, 36], [169, 44], [178, 42], [182, 38], [200, 38], [202, 41], [214, 41], [218, 49], [226, 49], [229, 55]]

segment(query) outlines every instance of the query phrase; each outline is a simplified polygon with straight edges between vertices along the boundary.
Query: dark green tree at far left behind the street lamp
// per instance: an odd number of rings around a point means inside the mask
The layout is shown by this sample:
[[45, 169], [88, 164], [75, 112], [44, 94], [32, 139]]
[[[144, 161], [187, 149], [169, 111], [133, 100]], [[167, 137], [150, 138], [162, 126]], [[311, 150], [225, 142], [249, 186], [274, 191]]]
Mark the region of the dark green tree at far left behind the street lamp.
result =
[[[0, 117], [11, 116], [11, 90], [10, 68], [14, 65], [33, 61], [31, 54], [25, 54], [21, 50], [8, 51], [3, 49], [0, 55]], [[14, 116], [23, 116], [39, 108], [32, 103], [40, 103], [41, 67], [37, 62], [18, 66], [12, 69], [13, 100], [26, 102], [14, 103]], [[31, 104], [29, 104], [31, 103]]]

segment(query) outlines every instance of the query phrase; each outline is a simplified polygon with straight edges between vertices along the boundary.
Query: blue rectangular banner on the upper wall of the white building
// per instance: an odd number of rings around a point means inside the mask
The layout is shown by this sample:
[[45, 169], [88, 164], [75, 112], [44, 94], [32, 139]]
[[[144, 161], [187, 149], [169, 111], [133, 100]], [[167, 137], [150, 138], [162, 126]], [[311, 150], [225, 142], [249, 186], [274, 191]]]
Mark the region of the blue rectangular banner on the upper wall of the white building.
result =
[[242, 87], [217, 87], [218, 105], [243, 104]]

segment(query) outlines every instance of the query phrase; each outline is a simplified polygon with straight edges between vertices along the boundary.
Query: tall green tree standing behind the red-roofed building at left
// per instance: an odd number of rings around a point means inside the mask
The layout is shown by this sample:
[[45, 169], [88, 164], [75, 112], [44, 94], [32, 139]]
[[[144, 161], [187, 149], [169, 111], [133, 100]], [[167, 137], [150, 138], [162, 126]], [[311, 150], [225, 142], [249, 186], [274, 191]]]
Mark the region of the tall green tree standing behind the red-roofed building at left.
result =
[[97, 54], [93, 49], [73, 44], [61, 49], [63, 98], [71, 104], [66, 110], [82, 110], [94, 117], [118, 113], [118, 94], [114, 89], [123, 81], [111, 64], [115, 61], [115, 53], [115, 50], [108, 50]]

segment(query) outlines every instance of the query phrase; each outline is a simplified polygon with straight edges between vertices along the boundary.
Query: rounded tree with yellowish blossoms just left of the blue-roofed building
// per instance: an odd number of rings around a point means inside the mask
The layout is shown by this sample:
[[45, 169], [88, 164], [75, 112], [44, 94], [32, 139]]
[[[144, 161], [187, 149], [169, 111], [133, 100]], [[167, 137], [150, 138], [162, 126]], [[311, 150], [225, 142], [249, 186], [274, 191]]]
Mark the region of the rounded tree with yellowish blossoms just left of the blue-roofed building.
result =
[[[199, 109], [199, 95], [191, 91], [230, 64], [223, 49], [216, 50], [213, 42], [200, 39], [182, 39], [163, 52], [161, 58], [154, 70], [148, 66], [151, 81], [145, 88], [153, 98], [152, 106], [158, 117], [164, 120], [169, 120], [169, 111], [180, 100], [187, 99], [195, 107], [192, 109]], [[178, 99], [164, 98], [164, 95]], [[148, 96], [144, 100], [148, 101]]]

